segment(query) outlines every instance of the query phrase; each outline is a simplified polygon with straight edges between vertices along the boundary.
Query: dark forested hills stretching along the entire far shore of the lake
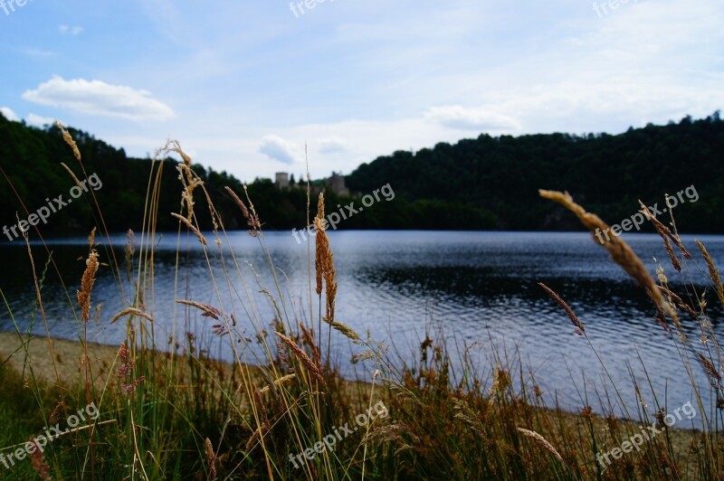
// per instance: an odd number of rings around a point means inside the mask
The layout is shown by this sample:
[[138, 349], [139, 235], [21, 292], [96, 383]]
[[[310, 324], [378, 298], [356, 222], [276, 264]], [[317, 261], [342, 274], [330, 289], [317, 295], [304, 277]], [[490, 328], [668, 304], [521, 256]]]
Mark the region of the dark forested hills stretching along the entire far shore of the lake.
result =
[[[126, 156], [85, 132], [70, 129], [86, 172], [98, 174], [95, 192], [110, 231], [138, 230], [151, 169], [149, 159]], [[80, 167], [57, 127], [36, 128], [12, 122], [0, 114], [0, 228], [35, 212], [64, 194], [73, 182], [61, 166], [77, 174]], [[236, 205], [224, 192], [241, 183], [225, 172], [195, 165], [224, 223], [244, 229]], [[175, 165], [165, 162], [159, 197], [158, 229], [172, 230], [177, 221], [181, 185]], [[321, 184], [319, 181], [318, 184]], [[679, 124], [610, 136], [564, 134], [490, 137], [438, 144], [414, 155], [395, 152], [360, 165], [347, 185], [357, 197], [338, 196], [329, 189], [328, 213], [338, 203], [356, 202], [359, 195], [390, 184], [394, 200], [377, 202], [339, 224], [341, 229], [510, 229], [566, 230], [580, 227], [572, 215], [538, 198], [538, 189], [567, 190], [605, 221], [614, 224], [637, 210], [636, 199], [663, 204], [664, 193], [694, 185], [699, 199], [676, 209], [682, 231], [720, 232], [724, 200], [724, 122], [719, 114]], [[306, 192], [298, 187], [279, 190], [268, 179], [257, 179], [249, 193], [265, 229], [301, 229], [306, 221]], [[24, 206], [18, 200], [22, 199]], [[195, 212], [203, 229], [210, 229], [203, 195], [195, 196]], [[314, 212], [312, 212], [313, 214]], [[73, 203], [52, 214], [43, 232], [87, 233], [100, 225], [88, 203]], [[4, 240], [5, 238], [0, 238]]]

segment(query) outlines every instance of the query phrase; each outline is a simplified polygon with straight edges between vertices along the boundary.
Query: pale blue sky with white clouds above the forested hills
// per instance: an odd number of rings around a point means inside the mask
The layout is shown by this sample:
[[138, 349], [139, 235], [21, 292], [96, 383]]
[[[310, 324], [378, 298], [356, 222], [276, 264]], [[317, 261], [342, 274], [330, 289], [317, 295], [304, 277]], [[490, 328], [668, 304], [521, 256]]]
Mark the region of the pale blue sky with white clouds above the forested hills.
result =
[[0, 0], [0, 111], [319, 178], [481, 133], [706, 117], [723, 20], [721, 0]]

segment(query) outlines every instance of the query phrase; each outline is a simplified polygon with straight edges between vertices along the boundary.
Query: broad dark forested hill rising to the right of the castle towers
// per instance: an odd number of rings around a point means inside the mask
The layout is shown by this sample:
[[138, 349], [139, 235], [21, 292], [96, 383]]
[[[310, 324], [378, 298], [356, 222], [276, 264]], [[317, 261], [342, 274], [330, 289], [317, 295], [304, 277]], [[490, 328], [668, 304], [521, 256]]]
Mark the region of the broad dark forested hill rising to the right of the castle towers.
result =
[[636, 212], [637, 199], [662, 206], [664, 193], [693, 184], [700, 198], [675, 210], [677, 223], [682, 231], [721, 232], [724, 122], [717, 112], [615, 136], [483, 134], [455, 145], [379, 157], [347, 177], [348, 187], [358, 192], [387, 183], [409, 200], [486, 209], [497, 217], [497, 229], [510, 230], [580, 229], [572, 215], [538, 197], [541, 188], [568, 191], [614, 224]]

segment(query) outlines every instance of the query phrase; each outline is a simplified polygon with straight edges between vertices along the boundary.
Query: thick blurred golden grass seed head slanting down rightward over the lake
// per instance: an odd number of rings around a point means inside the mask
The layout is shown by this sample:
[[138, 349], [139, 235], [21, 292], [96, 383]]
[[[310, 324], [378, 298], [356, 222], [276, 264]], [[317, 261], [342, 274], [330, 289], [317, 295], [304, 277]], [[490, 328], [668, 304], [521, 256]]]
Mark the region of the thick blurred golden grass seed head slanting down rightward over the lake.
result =
[[[594, 213], [586, 212], [586, 209], [575, 203], [569, 193], [545, 190], [539, 190], [538, 193], [540, 193], [541, 197], [560, 203], [569, 211], [575, 213], [578, 220], [581, 221], [586, 226], [586, 229], [591, 232], [591, 236], [594, 238], [594, 241], [596, 230], [605, 231], [610, 229], [608, 224], [602, 221], [600, 217]], [[595, 243], [598, 244], [599, 242], [595, 241]], [[649, 272], [643, 266], [643, 262], [627, 243], [625, 243], [620, 237], [612, 236], [611, 241], [605, 242], [604, 248], [605, 250], [608, 250], [611, 259], [639, 283], [649, 297], [651, 297], [653, 304], [657, 308], [671, 316], [672, 319], [678, 319], [676, 311], [674, 311], [669, 303], [663, 299], [661, 291], [653, 281]], [[683, 246], [681, 246], [681, 248], [683, 248]], [[688, 252], [686, 254], [688, 254]], [[684, 254], [684, 256], [686, 256], [686, 254]]]

